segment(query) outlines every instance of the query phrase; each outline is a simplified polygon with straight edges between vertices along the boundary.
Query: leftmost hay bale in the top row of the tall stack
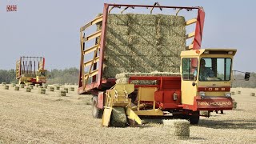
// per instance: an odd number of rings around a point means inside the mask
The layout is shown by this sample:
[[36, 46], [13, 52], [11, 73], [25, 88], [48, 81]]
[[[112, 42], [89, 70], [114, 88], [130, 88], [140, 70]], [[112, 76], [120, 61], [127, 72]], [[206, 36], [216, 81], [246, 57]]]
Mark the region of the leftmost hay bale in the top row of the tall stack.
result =
[[128, 26], [129, 15], [128, 14], [109, 14], [107, 18], [108, 25], [124, 25]]

